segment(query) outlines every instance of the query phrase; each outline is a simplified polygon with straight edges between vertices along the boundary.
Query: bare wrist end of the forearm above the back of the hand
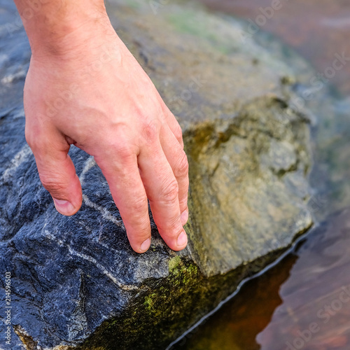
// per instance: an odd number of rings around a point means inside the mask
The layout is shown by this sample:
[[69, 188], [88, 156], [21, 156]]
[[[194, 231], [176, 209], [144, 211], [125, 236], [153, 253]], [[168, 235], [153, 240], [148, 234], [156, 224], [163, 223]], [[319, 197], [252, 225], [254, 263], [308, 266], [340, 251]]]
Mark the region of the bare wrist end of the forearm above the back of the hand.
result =
[[33, 55], [63, 55], [110, 27], [104, 0], [14, 0]]

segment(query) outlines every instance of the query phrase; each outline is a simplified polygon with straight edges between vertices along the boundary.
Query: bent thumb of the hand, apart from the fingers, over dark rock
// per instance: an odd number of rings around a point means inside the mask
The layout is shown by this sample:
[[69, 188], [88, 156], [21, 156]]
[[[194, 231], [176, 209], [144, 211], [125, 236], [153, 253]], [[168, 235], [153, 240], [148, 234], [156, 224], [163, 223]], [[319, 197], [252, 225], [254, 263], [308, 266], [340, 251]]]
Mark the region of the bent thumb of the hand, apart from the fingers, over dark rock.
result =
[[[26, 130], [27, 137], [27, 130]], [[60, 214], [71, 216], [81, 207], [79, 178], [68, 155], [70, 144], [60, 132], [50, 132], [27, 142], [34, 153], [36, 167], [44, 188], [50, 192]]]

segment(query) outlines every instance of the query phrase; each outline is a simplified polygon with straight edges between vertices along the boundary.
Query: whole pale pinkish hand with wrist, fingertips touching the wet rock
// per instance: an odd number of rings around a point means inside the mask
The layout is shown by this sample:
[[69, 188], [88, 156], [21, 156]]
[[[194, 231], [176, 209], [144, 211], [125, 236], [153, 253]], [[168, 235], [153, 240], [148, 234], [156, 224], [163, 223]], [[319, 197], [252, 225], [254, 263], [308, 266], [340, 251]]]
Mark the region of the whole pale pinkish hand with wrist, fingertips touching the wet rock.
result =
[[[186, 247], [188, 162], [181, 128], [111, 27], [103, 1], [42, 0], [30, 20], [26, 139], [55, 207], [70, 216], [82, 190], [68, 151], [94, 156], [134, 251], [151, 244], [148, 202], [166, 244]], [[52, 15], [53, 14], [53, 15]], [[71, 17], [74, 20], [71, 20]]]

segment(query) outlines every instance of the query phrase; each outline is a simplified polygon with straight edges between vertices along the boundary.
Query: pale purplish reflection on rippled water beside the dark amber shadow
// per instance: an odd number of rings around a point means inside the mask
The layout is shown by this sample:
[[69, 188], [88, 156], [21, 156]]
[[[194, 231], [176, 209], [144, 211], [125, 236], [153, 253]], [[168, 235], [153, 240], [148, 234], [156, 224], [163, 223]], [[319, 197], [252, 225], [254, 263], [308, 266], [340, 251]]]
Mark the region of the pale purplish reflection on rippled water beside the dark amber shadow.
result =
[[328, 218], [297, 252], [262, 350], [350, 349], [350, 209]]

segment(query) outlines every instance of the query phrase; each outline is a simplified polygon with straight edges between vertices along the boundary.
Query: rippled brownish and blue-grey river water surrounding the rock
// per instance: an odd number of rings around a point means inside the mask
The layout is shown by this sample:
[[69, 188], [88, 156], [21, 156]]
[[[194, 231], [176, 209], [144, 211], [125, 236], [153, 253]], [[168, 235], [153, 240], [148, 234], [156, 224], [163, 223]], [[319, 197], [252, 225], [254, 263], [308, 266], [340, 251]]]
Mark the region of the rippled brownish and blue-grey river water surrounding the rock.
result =
[[[324, 73], [350, 57], [349, 0], [200, 0], [259, 22]], [[265, 11], [265, 20], [261, 17]], [[267, 18], [267, 15], [269, 18]], [[257, 16], [260, 15], [260, 18]], [[350, 60], [350, 59], [349, 59]], [[278, 265], [248, 281], [173, 349], [350, 349], [350, 62], [329, 79], [329, 109], [313, 130], [315, 227]]]

